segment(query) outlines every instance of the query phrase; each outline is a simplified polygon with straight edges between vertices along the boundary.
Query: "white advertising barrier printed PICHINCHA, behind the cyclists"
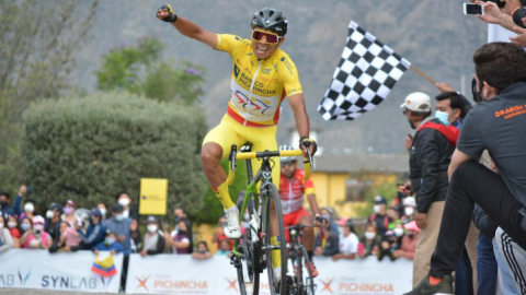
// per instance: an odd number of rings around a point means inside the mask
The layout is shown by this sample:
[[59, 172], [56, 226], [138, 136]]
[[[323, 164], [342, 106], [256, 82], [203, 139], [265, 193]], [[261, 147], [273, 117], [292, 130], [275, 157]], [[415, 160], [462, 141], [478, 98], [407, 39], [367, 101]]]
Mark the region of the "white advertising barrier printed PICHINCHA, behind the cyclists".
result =
[[[321, 295], [396, 295], [411, 290], [412, 261], [375, 257], [332, 261], [315, 258], [320, 275], [316, 294]], [[268, 294], [266, 272], [260, 274], [260, 294]], [[239, 294], [236, 269], [229, 258], [215, 256], [195, 260], [190, 256], [158, 255], [129, 258], [126, 293], [141, 294]]]

